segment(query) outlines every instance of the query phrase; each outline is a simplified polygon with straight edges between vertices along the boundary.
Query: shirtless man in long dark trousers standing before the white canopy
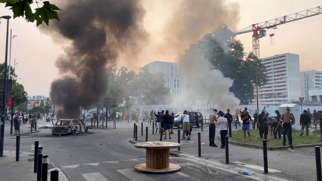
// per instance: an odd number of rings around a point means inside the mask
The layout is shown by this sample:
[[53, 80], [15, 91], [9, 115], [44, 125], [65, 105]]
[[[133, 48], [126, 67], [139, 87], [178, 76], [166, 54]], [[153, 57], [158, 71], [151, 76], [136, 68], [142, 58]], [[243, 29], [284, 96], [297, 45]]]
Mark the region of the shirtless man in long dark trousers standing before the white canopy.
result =
[[286, 107], [286, 113], [282, 114], [280, 121], [283, 123], [283, 146], [285, 146], [287, 135], [289, 149], [294, 149], [292, 144], [292, 125], [295, 124], [295, 118], [290, 113], [290, 107]]

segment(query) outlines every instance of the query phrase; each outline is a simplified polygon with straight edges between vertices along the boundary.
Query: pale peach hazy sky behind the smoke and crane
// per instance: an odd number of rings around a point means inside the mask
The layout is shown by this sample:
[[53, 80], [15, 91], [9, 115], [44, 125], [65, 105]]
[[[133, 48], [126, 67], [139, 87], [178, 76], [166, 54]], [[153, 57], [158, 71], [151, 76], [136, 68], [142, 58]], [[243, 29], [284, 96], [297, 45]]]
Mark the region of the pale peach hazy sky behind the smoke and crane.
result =
[[[223, 5], [217, 5], [218, 2], [223, 2]], [[135, 58], [127, 53], [121, 53], [117, 58], [117, 67], [127, 66], [129, 69], [138, 70], [139, 67], [152, 61], [178, 62], [190, 43], [195, 43], [205, 32], [212, 31], [218, 24], [228, 24], [228, 28], [239, 30], [255, 23], [322, 6], [319, 0], [214, 0], [196, 7], [197, 10], [187, 11], [193, 8], [192, 4], [192, 1], [187, 3], [179, 0], [142, 1], [142, 6], [146, 10], [144, 28], [149, 33], [149, 41], [146, 45], [142, 45], [142, 51]], [[4, 15], [12, 16], [12, 12], [1, 4], [0, 16]], [[187, 23], [186, 18], [194, 21]], [[6, 27], [7, 21], [2, 19], [1, 62], [5, 60]], [[21, 78], [18, 82], [25, 86], [29, 96], [49, 96], [52, 80], [59, 77], [58, 70], [54, 66], [55, 61], [64, 53], [63, 49], [69, 42], [52, 40], [50, 35], [42, 33], [39, 27], [27, 23], [22, 18], [11, 19], [10, 28], [13, 30], [13, 35], [17, 35], [12, 39], [11, 62], [12, 65], [14, 59], [19, 62], [16, 65], [16, 73], [18, 78]], [[311, 69], [322, 71], [322, 58], [319, 55], [319, 51], [322, 50], [321, 29], [322, 15], [278, 26], [278, 29], [273, 31], [274, 46], [270, 45], [269, 36], [260, 39], [261, 57], [295, 53], [300, 56], [301, 71]], [[236, 38], [245, 45], [245, 52], [252, 51], [252, 33], [238, 35]], [[110, 61], [110, 65], [112, 64], [114, 60]]]

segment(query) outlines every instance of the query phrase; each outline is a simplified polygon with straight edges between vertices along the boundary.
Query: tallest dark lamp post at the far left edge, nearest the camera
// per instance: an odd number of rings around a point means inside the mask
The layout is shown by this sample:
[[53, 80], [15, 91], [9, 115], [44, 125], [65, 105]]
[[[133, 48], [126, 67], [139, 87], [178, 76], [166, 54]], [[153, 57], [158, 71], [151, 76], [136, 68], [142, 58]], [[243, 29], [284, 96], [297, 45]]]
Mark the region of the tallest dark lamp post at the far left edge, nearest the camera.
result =
[[0, 19], [7, 20], [7, 37], [6, 37], [6, 56], [5, 56], [5, 71], [4, 71], [4, 90], [2, 97], [2, 125], [1, 125], [1, 135], [0, 135], [0, 157], [4, 156], [4, 138], [5, 138], [5, 110], [6, 110], [6, 90], [7, 90], [7, 64], [8, 64], [8, 34], [9, 34], [9, 20], [11, 16], [2, 16]]

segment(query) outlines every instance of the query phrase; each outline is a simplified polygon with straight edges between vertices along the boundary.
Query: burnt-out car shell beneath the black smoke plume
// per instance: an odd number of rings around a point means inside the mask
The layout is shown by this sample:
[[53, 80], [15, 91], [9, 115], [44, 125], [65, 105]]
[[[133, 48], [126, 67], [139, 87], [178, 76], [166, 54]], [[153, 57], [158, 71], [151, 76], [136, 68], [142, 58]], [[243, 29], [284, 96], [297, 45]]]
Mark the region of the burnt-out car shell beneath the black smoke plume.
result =
[[60, 119], [53, 126], [52, 135], [87, 133], [88, 127], [81, 119]]

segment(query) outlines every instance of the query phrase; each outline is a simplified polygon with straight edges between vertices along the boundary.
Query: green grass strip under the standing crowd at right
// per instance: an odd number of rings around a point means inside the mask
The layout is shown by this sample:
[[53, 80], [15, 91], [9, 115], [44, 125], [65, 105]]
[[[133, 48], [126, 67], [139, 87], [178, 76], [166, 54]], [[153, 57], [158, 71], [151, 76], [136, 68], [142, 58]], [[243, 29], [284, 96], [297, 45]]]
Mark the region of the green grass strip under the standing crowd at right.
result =
[[[252, 140], [250, 141], [248, 139], [248, 135], [246, 133], [246, 141], [245, 143], [249, 144], [256, 144], [256, 145], [263, 145], [263, 138], [260, 137], [259, 135], [259, 130], [254, 129], [250, 130], [251, 132], [251, 138]], [[271, 136], [271, 130], [268, 130], [268, 135], [267, 139], [269, 140], [267, 142], [267, 146], [283, 146], [283, 136], [281, 139], [273, 139], [274, 134]], [[243, 135], [244, 132], [242, 130], [237, 130], [237, 131], [232, 131], [232, 137], [229, 138], [231, 141], [236, 141], [236, 142], [243, 142]], [[293, 129], [292, 130], [292, 141], [293, 145], [304, 145], [304, 144], [319, 144], [322, 143], [319, 140], [321, 139], [321, 132], [319, 129], [315, 130], [312, 129], [312, 131], [309, 131], [308, 136], [304, 133], [302, 136], [300, 136], [300, 131]], [[288, 141], [286, 138], [286, 145], [288, 145]]]

